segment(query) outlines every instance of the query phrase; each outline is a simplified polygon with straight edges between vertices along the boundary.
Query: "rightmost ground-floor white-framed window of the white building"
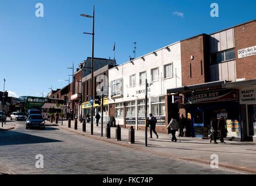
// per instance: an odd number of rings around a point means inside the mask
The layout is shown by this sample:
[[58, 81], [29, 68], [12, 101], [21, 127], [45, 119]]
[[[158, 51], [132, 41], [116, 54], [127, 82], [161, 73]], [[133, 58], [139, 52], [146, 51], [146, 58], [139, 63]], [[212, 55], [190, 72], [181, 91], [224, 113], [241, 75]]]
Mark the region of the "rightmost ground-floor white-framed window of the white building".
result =
[[164, 97], [151, 98], [151, 113], [153, 116], [166, 115], [166, 103]]

